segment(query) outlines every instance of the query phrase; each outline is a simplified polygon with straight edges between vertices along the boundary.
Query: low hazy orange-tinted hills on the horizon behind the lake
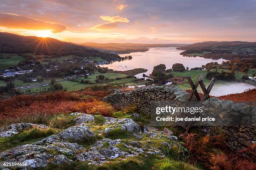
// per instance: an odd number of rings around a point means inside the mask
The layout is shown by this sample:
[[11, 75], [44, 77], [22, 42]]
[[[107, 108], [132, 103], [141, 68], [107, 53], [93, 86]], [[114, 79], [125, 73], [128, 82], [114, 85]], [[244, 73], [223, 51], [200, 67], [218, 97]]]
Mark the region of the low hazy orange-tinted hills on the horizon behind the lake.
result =
[[84, 47], [93, 47], [102, 51], [111, 51], [118, 53], [143, 52], [150, 47], [181, 47], [186, 44], [141, 44], [141, 43], [95, 43], [85, 42], [78, 45]]

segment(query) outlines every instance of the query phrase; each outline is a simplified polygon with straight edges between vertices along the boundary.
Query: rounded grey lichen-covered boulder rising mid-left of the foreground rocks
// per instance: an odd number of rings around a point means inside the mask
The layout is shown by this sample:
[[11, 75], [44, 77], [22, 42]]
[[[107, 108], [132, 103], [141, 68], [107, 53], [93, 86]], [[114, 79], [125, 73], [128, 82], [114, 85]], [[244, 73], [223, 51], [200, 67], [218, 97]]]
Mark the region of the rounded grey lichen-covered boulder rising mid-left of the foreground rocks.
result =
[[90, 139], [94, 137], [96, 134], [92, 132], [87, 126], [72, 126], [63, 130], [59, 133], [58, 137], [63, 140], [71, 139], [71, 140], [83, 140]]

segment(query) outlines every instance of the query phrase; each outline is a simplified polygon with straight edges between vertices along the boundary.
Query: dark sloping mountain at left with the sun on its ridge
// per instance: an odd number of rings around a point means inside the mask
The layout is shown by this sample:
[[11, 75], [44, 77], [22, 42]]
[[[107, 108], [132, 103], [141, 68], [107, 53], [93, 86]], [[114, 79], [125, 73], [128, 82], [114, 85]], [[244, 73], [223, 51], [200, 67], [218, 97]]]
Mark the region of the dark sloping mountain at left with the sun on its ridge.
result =
[[109, 60], [120, 58], [119, 55], [92, 50], [91, 47], [87, 48], [54, 38], [22, 36], [8, 32], [0, 32], [0, 53], [33, 53], [51, 57], [76, 55], [80, 57], [102, 57]]

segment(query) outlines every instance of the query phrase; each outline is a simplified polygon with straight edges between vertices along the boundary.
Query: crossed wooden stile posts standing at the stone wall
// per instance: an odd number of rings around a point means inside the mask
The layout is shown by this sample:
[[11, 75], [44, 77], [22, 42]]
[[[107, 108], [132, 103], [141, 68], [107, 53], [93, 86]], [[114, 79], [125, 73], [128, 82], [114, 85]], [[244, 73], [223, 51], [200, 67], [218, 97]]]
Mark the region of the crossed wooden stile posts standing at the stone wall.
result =
[[[195, 95], [197, 101], [200, 101], [199, 104], [198, 104], [198, 107], [200, 107], [202, 105], [202, 103], [207, 100], [209, 98], [209, 94], [212, 90], [212, 87], [215, 83], [215, 81], [217, 80], [215, 77], [212, 77], [212, 80], [210, 81], [210, 84], [208, 85], [208, 87], [206, 88], [205, 87], [205, 84], [204, 82], [201, 80], [203, 77], [202, 74], [200, 74], [198, 77], [197, 77], [197, 80], [195, 82], [195, 84], [193, 83], [191, 77], [187, 77], [187, 80], [189, 82], [189, 85], [191, 86], [192, 88], [192, 91], [189, 93], [188, 97], [187, 97], [187, 100], [184, 104], [184, 106], [186, 107], [188, 102], [192, 100], [192, 97], [193, 95]], [[202, 96], [202, 98], [199, 96], [198, 92], [197, 92], [197, 86], [200, 85], [201, 89], [202, 89], [202, 92], [204, 93], [204, 95]], [[195, 113], [196, 114], [196, 113]], [[196, 115], [193, 115], [193, 116], [196, 116]], [[189, 131], [189, 128], [191, 127], [193, 122], [189, 122], [189, 124], [187, 126], [185, 125], [181, 125], [179, 123], [177, 123], [177, 125], [180, 125], [182, 126], [182, 128], [186, 129], [186, 133]]]

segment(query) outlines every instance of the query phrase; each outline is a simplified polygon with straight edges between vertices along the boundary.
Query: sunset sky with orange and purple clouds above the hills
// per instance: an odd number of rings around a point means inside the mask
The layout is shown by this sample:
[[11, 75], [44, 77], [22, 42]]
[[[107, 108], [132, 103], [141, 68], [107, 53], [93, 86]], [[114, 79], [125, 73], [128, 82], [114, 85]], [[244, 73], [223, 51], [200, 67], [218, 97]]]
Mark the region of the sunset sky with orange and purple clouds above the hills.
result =
[[256, 41], [256, 0], [0, 0], [0, 31], [62, 41]]

